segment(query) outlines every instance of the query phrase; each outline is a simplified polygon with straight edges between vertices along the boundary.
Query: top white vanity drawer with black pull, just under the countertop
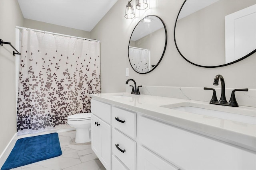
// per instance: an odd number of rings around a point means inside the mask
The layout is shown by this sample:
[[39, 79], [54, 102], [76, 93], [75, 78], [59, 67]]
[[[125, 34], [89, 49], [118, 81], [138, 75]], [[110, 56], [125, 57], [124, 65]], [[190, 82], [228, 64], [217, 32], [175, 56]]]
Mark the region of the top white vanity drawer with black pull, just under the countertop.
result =
[[112, 107], [112, 126], [126, 135], [136, 137], [136, 113]]

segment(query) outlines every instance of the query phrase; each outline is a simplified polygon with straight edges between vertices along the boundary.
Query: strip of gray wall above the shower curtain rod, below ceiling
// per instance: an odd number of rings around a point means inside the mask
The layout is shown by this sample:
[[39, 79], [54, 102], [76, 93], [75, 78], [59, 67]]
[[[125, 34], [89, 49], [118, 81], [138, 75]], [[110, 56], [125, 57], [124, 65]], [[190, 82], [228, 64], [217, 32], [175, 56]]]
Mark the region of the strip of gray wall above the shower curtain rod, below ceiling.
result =
[[69, 27], [63, 27], [60, 25], [54, 25], [51, 23], [45, 23], [45, 22], [29, 20], [29, 19], [24, 19], [24, 27], [39, 29], [42, 31], [54, 32], [54, 33], [60, 33], [65, 35], [72, 35], [76, 37], [83, 37], [83, 38], [89, 38], [89, 39], [91, 38], [90, 32], [88, 31], [83, 31], [80, 29], [74, 29]]

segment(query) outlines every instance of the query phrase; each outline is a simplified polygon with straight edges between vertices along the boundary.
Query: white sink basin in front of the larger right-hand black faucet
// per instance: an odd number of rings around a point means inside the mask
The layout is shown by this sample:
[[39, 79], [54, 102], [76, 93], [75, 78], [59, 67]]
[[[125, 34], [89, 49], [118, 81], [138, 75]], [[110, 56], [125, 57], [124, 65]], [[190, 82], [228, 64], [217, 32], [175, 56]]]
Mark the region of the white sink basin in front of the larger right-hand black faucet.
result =
[[[194, 105], [196, 105], [196, 104], [194, 104]], [[238, 121], [238, 122], [242, 122], [242, 123], [256, 125], [256, 117], [255, 116], [221, 111], [220, 107], [218, 108], [218, 110], [202, 108], [202, 107], [200, 107], [200, 105], [189, 106], [189, 104], [187, 104], [185, 106], [179, 106], [179, 107], [173, 107], [172, 105], [164, 105], [164, 106], [160, 106], [160, 107], [166, 107], [166, 108], [174, 109], [174, 110], [178, 110], [178, 111], [184, 111], [184, 112], [194, 113], [194, 114], [198, 114], [198, 115], [206, 115], [206, 116], [216, 117], [216, 118], [220, 118], [220, 119], [227, 119], [227, 120], [231, 120], [231, 121]], [[207, 107], [207, 105], [204, 107]], [[232, 110], [234, 108], [230, 108], [230, 109]]]

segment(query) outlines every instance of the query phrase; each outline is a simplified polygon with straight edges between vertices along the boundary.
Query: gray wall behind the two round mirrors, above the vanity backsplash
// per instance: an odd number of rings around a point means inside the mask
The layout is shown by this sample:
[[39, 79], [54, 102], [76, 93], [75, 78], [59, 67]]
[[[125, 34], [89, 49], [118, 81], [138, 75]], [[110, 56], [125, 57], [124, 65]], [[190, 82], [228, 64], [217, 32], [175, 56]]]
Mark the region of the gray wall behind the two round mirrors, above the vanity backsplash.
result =
[[[214, 77], [222, 74], [226, 88], [256, 88], [256, 54], [238, 63], [220, 68], [202, 68], [186, 62], [178, 53], [173, 38], [174, 24], [182, 0], [151, 0], [150, 9], [136, 10], [136, 18], [124, 18], [126, 1], [118, 0], [91, 31], [101, 41], [102, 92], [125, 92], [125, 82], [134, 78], [138, 85], [215, 87]], [[134, 3], [132, 1], [132, 3]], [[134, 5], [134, 4], [133, 4]], [[128, 43], [136, 23], [143, 17], [157, 15], [166, 24], [168, 42], [159, 66], [148, 74], [132, 70], [128, 60]], [[130, 76], [125, 76], [129, 68]]]

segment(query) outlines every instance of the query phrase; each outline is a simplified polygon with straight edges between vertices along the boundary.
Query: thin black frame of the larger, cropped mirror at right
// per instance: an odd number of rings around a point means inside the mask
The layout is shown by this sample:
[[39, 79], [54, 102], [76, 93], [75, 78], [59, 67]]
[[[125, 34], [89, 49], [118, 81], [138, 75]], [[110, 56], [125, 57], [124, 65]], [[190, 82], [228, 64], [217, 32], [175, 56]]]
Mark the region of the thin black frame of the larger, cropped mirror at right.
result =
[[188, 59], [186, 59], [186, 57], [184, 57], [184, 56], [182, 55], [182, 53], [180, 52], [180, 50], [179, 50], [179, 48], [178, 48], [178, 45], [177, 45], [177, 43], [176, 43], [176, 37], [175, 37], [176, 23], [177, 23], [177, 20], [178, 20], [179, 15], [180, 15], [180, 11], [182, 10], [182, 7], [184, 6], [184, 4], [185, 4], [186, 1], [187, 1], [187, 0], [184, 0], [182, 6], [180, 7], [179, 13], [178, 13], [177, 18], [176, 18], [176, 21], [175, 21], [175, 25], [174, 25], [174, 43], [175, 43], [175, 46], [176, 46], [178, 52], [180, 53], [181, 57], [183, 57], [183, 59], [185, 59], [188, 63], [193, 64], [193, 65], [195, 65], [195, 66], [204, 67], [204, 68], [216, 68], [216, 67], [228, 66], [228, 65], [230, 65], [230, 64], [237, 63], [238, 61], [241, 61], [241, 60], [243, 60], [243, 59], [249, 57], [250, 55], [252, 55], [253, 53], [256, 52], [256, 49], [254, 49], [252, 52], [248, 53], [247, 55], [245, 55], [244, 57], [241, 57], [240, 59], [238, 59], [238, 60], [236, 60], [236, 61], [232, 61], [231, 63], [222, 64], [222, 65], [218, 65], [218, 66], [202, 66], [202, 65], [198, 65], [198, 64], [192, 63], [191, 61], [189, 61]]

